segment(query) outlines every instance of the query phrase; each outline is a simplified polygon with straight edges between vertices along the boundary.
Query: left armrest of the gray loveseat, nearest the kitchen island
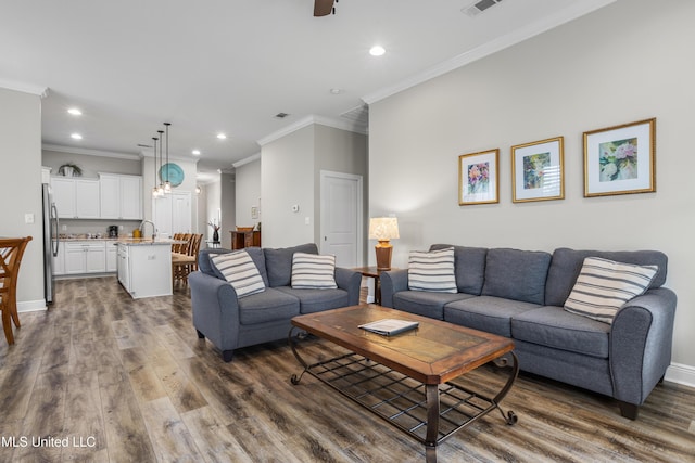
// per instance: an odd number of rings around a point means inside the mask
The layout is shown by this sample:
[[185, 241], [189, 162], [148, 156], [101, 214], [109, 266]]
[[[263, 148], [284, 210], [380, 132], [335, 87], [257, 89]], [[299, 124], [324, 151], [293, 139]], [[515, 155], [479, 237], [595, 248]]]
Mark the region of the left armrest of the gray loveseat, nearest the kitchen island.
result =
[[238, 344], [239, 303], [235, 288], [224, 280], [192, 272], [191, 288], [193, 326], [220, 350], [232, 350]]

